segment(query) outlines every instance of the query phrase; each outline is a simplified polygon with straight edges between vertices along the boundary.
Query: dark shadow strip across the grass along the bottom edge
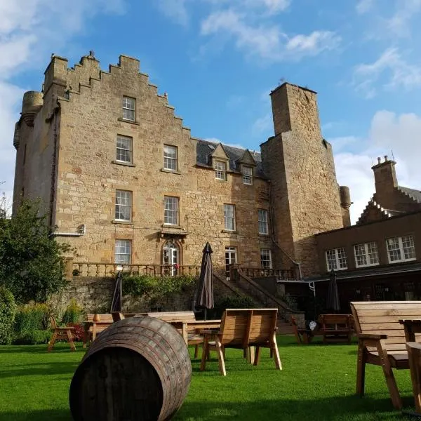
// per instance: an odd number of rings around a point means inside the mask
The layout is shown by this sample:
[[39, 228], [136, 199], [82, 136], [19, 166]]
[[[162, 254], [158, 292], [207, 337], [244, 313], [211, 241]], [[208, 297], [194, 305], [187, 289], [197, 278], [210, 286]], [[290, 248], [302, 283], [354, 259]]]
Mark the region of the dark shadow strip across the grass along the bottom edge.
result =
[[[403, 399], [406, 407], [413, 405]], [[337, 396], [319, 400], [265, 400], [253, 402], [185, 402], [174, 421], [211, 420], [404, 420], [390, 399], [366, 396]]]

